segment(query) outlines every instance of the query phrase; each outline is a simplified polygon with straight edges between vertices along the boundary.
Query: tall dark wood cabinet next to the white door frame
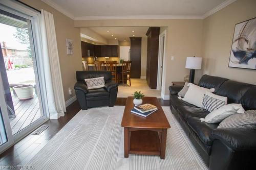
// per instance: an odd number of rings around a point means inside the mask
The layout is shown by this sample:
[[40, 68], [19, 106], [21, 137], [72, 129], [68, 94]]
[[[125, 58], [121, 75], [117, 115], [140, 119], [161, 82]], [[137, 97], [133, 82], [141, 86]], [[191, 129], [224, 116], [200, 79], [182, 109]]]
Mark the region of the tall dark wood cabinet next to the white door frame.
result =
[[147, 30], [147, 61], [146, 61], [146, 81], [152, 89], [157, 88], [158, 71], [158, 44], [159, 27], [150, 27]]

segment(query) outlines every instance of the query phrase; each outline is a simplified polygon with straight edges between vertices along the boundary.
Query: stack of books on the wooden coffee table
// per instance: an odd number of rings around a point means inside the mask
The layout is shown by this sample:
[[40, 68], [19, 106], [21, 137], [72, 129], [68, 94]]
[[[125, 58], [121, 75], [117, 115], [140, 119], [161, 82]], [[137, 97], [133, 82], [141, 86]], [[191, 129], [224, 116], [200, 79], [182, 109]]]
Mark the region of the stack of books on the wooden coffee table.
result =
[[158, 108], [156, 106], [146, 103], [143, 105], [134, 106], [134, 108], [131, 110], [131, 113], [146, 117], [156, 112], [157, 110]]

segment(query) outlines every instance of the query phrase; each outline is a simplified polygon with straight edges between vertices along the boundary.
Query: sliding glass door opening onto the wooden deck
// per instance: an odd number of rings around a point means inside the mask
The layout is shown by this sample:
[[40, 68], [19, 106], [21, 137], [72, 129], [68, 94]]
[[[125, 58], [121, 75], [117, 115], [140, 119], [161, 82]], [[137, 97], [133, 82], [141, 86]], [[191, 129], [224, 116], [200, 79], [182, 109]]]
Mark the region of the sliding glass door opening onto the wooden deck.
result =
[[0, 145], [15, 142], [47, 119], [34, 22], [24, 12], [0, 6]]

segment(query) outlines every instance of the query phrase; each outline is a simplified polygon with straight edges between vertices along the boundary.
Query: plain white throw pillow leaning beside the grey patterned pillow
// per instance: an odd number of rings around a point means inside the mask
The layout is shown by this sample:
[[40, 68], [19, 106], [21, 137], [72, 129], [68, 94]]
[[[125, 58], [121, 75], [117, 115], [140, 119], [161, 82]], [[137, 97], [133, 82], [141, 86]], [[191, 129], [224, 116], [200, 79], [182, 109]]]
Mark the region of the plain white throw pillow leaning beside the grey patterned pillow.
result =
[[216, 124], [227, 118], [228, 116], [236, 113], [243, 114], [245, 110], [243, 109], [241, 104], [228, 104], [225, 106], [216, 109], [215, 111], [210, 112], [205, 116], [205, 118], [200, 118], [202, 122], [207, 122], [210, 124]]

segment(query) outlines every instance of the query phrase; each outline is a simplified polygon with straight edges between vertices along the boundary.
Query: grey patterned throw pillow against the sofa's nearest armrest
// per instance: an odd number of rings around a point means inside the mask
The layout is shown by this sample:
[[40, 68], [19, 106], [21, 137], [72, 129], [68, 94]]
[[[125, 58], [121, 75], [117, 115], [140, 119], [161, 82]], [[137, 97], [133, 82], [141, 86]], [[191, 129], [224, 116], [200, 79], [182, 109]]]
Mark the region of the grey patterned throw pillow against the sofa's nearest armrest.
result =
[[249, 128], [256, 129], [256, 110], [246, 110], [244, 114], [228, 116], [218, 128]]

